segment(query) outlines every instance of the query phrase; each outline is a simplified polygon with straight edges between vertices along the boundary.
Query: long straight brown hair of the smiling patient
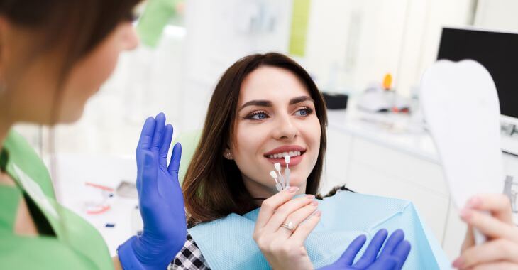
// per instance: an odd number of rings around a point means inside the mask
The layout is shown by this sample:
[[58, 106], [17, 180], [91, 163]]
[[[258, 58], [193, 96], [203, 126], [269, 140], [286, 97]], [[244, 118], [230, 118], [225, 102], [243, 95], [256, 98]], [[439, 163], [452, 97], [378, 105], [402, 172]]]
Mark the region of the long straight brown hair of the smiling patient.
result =
[[257, 205], [246, 190], [241, 171], [223, 153], [234, 134], [238, 97], [245, 77], [261, 66], [289, 70], [301, 80], [314, 99], [320, 121], [319, 157], [307, 178], [306, 193], [316, 194], [326, 152], [326, 105], [314, 81], [294, 60], [280, 53], [249, 55], [234, 63], [221, 76], [212, 94], [199, 144], [182, 185], [190, 226], [216, 220], [230, 213], [243, 215]]

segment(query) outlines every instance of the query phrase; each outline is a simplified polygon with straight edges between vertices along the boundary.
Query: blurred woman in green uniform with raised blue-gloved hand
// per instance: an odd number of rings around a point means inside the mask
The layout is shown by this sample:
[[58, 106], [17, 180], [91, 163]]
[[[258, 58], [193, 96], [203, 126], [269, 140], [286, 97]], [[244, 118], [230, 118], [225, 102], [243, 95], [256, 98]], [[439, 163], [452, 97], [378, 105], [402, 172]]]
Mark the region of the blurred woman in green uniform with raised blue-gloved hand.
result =
[[18, 122], [79, 119], [119, 53], [138, 44], [131, 24], [137, 3], [0, 0], [1, 269], [165, 269], [182, 247], [180, 146], [166, 168], [172, 127], [163, 114], [146, 121], [137, 148], [144, 232], [122, 244], [113, 261], [99, 232], [55, 200], [43, 162], [10, 131]]

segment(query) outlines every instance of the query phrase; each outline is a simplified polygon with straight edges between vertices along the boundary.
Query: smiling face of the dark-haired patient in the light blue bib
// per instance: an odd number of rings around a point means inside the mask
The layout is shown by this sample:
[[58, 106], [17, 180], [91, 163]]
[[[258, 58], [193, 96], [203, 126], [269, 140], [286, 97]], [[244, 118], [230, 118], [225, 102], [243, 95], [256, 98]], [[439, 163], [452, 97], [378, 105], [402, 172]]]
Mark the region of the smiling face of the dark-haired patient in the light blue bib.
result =
[[269, 173], [274, 163], [286, 167], [286, 153], [292, 156], [290, 185], [304, 193], [319, 156], [321, 132], [303, 82], [282, 68], [263, 66], [250, 72], [241, 85], [236, 117], [229, 151], [250, 194], [268, 198], [277, 192]]

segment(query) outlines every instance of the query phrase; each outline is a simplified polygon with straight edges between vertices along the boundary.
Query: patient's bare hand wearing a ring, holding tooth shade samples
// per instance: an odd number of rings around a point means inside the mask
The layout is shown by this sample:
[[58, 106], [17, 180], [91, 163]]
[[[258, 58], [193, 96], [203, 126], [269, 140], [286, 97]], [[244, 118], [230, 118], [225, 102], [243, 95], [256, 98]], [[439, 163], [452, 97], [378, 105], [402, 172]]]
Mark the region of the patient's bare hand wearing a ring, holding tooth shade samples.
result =
[[[272, 269], [313, 269], [304, 241], [321, 213], [313, 195], [291, 200], [297, 190], [290, 187], [264, 200], [255, 222], [253, 239]], [[293, 229], [287, 228], [290, 222]]]

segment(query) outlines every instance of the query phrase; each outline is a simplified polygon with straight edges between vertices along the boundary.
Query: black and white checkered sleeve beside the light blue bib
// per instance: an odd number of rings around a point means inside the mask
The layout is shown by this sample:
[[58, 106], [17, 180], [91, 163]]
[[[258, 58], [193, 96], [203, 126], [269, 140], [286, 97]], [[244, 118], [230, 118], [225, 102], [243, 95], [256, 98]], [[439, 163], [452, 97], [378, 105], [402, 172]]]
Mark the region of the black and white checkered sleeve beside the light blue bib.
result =
[[191, 234], [187, 234], [184, 247], [176, 254], [175, 259], [171, 261], [167, 269], [210, 270]]

